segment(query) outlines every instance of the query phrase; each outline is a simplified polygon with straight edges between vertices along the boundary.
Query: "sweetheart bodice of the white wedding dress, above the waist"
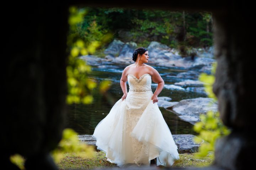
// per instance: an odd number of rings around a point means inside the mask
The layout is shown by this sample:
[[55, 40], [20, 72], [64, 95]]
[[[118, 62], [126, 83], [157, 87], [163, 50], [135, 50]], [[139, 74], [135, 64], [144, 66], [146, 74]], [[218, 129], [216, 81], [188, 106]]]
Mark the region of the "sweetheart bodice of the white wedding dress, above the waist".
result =
[[127, 75], [129, 91], [133, 92], [146, 92], [152, 91], [151, 89], [151, 75], [146, 73], [139, 79], [134, 75]]

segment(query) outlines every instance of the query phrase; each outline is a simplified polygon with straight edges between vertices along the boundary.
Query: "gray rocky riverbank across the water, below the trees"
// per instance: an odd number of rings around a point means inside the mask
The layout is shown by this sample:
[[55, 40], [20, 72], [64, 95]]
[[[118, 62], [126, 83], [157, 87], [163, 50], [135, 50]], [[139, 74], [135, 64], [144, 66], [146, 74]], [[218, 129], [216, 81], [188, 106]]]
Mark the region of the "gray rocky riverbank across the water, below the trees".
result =
[[[80, 56], [88, 65], [111, 65], [133, 64], [132, 55], [137, 48], [134, 42], [124, 43], [120, 40], [113, 40], [108, 48], [104, 51], [105, 57], [97, 57], [95, 55]], [[187, 57], [182, 57], [177, 49], [172, 49], [167, 45], [152, 41], [148, 47], [149, 65], [165, 66], [165, 67], [181, 67], [181, 68], [199, 68], [200, 72], [210, 73], [211, 65], [214, 59], [214, 47], [207, 49], [191, 49], [188, 51]], [[192, 55], [193, 53], [193, 55]], [[194, 54], [196, 54], [194, 56]]]

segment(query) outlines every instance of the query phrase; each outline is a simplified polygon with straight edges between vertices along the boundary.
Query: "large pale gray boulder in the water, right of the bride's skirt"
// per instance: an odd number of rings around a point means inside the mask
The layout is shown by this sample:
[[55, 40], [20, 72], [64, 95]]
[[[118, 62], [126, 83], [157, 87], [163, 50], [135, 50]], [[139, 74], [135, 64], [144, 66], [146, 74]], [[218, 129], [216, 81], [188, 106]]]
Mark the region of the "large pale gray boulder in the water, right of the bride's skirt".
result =
[[218, 103], [212, 98], [194, 98], [181, 100], [174, 106], [171, 111], [177, 114], [182, 120], [195, 124], [200, 121], [200, 114], [206, 114], [208, 111], [218, 111]]

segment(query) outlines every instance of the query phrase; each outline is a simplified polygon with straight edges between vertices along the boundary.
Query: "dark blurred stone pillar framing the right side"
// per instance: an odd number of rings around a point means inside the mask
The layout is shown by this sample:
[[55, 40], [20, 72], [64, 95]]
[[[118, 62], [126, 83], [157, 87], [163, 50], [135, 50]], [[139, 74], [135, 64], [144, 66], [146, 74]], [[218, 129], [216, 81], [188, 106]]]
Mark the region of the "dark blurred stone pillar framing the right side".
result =
[[218, 61], [213, 92], [218, 97], [220, 118], [232, 129], [215, 146], [215, 163], [225, 169], [253, 165], [256, 79], [253, 21], [252, 11], [235, 2], [226, 10], [213, 12]]

